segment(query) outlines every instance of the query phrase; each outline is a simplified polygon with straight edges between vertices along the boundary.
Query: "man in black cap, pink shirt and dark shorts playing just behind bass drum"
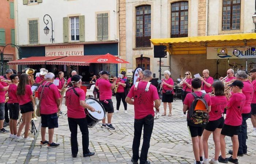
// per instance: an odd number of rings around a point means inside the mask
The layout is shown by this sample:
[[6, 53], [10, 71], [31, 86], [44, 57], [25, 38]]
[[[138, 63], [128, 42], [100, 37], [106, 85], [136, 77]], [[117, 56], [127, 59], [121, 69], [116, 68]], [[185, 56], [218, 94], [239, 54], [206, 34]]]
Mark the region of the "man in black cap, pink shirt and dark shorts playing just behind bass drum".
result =
[[104, 106], [106, 112], [108, 112], [108, 124], [106, 124], [106, 118], [102, 120], [101, 128], [108, 128], [114, 130], [115, 128], [111, 124], [111, 118], [114, 112], [114, 106], [112, 102], [112, 89], [116, 85], [117, 78], [114, 77], [114, 82], [109, 82], [109, 73], [106, 71], [101, 72], [101, 80], [98, 82], [99, 87], [99, 102]]

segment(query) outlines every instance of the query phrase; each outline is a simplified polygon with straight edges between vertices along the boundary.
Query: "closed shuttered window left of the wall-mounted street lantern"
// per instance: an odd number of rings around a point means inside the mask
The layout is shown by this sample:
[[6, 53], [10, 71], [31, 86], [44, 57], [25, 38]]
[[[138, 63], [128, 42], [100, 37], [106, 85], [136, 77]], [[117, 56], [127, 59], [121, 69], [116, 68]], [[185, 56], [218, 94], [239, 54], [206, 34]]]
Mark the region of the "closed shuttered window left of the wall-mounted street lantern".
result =
[[29, 44], [38, 44], [37, 20], [29, 20]]

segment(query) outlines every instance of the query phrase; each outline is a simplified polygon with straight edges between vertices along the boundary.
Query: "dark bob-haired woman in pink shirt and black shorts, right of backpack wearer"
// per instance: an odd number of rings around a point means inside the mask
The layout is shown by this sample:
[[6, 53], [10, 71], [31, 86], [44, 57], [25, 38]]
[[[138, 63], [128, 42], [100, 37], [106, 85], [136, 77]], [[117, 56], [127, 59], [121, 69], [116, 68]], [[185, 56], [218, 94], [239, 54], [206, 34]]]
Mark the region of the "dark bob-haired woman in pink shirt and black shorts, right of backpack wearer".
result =
[[213, 140], [215, 145], [215, 156], [211, 159], [211, 163], [217, 163], [219, 152], [221, 151], [221, 144], [219, 137], [221, 136], [221, 129], [224, 125], [223, 112], [227, 105], [227, 98], [224, 93], [223, 82], [217, 81], [212, 84], [212, 91], [214, 96], [211, 97], [211, 111], [209, 113], [209, 122], [203, 131], [203, 151], [204, 158], [203, 162], [208, 163], [208, 138], [211, 133], [213, 134]]

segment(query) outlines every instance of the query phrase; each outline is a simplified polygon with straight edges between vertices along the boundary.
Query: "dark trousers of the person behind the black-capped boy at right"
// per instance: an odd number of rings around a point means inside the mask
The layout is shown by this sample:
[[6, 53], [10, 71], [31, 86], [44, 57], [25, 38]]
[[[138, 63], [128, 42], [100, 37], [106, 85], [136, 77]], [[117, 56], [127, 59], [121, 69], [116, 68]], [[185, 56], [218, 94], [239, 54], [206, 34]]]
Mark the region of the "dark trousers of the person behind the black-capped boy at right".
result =
[[242, 114], [242, 125], [241, 125], [241, 133], [238, 134], [239, 148], [238, 154], [247, 153], [246, 146], [246, 135], [247, 135], [247, 123], [246, 120], [250, 118], [251, 113], [243, 113]]

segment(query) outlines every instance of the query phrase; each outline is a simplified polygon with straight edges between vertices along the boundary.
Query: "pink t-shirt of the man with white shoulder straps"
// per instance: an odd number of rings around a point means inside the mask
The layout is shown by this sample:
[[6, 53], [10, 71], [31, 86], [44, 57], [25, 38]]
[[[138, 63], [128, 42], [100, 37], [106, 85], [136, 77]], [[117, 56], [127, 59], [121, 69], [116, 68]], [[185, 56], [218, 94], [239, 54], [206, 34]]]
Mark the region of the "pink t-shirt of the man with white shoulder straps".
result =
[[155, 116], [154, 101], [159, 99], [157, 88], [150, 85], [149, 90], [146, 92], [147, 82], [141, 81], [138, 84], [137, 90], [134, 90], [135, 85], [131, 87], [127, 97], [134, 98], [134, 118], [142, 119], [148, 115]]

